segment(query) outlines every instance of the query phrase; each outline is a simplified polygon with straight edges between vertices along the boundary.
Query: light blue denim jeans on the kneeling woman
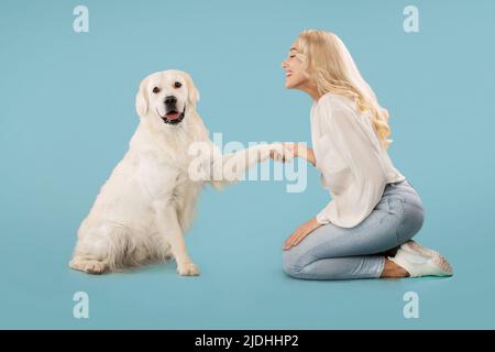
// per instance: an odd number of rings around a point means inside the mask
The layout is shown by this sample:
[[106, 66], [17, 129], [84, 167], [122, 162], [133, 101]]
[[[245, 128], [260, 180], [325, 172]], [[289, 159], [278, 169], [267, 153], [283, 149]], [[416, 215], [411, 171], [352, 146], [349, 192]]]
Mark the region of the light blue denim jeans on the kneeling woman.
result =
[[321, 226], [284, 251], [284, 271], [306, 279], [380, 277], [384, 252], [409, 241], [421, 229], [424, 216], [421, 199], [407, 179], [388, 184], [376, 207], [355, 227]]

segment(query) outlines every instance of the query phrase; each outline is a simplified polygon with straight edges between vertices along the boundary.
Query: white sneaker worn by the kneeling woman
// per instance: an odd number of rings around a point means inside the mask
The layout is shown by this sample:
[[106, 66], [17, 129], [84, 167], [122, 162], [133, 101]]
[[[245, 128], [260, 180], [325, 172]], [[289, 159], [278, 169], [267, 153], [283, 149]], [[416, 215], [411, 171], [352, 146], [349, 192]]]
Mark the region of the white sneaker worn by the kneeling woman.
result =
[[424, 248], [415, 241], [403, 244], [397, 254], [388, 260], [406, 270], [411, 277], [453, 274], [452, 266], [439, 252]]

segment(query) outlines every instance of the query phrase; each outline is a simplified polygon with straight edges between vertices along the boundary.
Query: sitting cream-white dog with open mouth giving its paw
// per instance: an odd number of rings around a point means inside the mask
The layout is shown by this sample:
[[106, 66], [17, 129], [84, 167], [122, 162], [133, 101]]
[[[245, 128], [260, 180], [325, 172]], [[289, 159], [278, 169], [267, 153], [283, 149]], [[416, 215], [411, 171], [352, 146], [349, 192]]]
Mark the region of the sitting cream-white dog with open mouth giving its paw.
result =
[[[140, 124], [79, 227], [72, 268], [100, 274], [174, 257], [178, 274], [199, 275], [184, 233], [200, 189], [207, 182], [220, 188], [239, 179], [271, 152], [280, 155], [283, 146], [263, 144], [222, 155], [196, 111], [198, 100], [184, 72], [155, 73], [141, 82], [135, 102]], [[204, 153], [198, 163], [189, 152], [193, 143], [202, 143], [211, 153]], [[219, 168], [222, 174], [228, 170], [230, 178], [211, 179]], [[193, 170], [210, 178], [191, 177]]]

